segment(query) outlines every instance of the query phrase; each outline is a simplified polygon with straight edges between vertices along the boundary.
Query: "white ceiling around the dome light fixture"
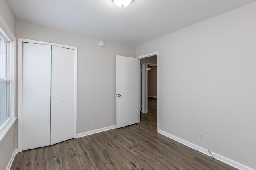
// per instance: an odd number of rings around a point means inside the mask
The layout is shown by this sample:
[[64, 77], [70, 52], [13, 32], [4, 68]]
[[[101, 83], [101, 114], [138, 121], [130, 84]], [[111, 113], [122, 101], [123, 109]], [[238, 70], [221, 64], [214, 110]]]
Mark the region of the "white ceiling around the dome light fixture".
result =
[[256, 0], [8, 0], [16, 19], [140, 45]]

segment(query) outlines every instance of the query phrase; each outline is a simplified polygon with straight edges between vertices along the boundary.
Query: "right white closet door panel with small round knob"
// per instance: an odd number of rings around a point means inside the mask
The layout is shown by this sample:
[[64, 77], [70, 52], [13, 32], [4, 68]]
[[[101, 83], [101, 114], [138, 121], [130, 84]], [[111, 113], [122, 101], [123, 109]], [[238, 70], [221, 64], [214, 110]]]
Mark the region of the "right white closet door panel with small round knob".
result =
[[52, 46], [51, 142], [74, 138], [74, 50]]

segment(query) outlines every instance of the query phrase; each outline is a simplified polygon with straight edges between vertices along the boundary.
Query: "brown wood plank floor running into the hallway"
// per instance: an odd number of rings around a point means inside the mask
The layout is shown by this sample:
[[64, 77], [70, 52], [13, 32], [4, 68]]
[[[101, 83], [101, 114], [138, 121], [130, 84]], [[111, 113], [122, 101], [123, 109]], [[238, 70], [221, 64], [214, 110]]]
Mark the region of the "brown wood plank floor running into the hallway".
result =
[[156, 100], [141, 122], [16, 155], [11, 170], [235, 170], [156, 132]]

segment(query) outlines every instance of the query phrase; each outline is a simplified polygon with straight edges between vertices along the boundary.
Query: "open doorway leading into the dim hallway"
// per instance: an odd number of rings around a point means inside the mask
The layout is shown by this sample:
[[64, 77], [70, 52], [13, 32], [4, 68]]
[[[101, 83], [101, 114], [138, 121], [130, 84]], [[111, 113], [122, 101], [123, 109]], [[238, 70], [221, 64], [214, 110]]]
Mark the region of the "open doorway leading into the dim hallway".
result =
[[[148, 113], [149, 119], [157, 119], [159, 129], [159, 65], [158, 51], [137, 57], [140, 59], [141, 114]], [[153, 115], [153, 116], [152, 116]]]

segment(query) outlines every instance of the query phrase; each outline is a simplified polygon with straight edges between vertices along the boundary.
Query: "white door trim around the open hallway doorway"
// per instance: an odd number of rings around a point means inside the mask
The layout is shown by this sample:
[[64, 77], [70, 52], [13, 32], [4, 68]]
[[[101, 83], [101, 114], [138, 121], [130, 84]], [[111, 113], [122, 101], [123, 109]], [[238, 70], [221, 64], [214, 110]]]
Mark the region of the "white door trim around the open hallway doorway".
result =
[[[143, 59], [146, 57], [151, 57], [156, 55], [157, 58], [157, 132], [159, 131], [159, 52], [153, 52], [153, 53], [148, 53], [145, 55], [140, 55], [136, 58], [138, 59]], [[141, 84], [139, 84], [139, 86], [141, 86]], [[141, 97], [141, 94], [139, 94], [139, 96]]]

